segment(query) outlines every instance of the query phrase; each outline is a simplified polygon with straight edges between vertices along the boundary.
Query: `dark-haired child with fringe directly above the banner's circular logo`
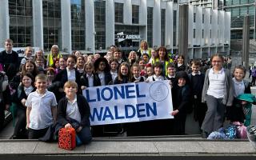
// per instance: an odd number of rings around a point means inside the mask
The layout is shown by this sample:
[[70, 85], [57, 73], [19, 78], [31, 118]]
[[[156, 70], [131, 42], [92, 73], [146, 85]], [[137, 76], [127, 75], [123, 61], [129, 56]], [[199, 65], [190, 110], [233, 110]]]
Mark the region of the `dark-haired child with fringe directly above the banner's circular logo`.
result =
[[154, 63], [154, 74], [151, 75], [146, 79], [146, 82], [153, 82], [153, 81], [163, 81], [166, 80], [164, 76], [162, 76], [162, 63], [155, 62]]

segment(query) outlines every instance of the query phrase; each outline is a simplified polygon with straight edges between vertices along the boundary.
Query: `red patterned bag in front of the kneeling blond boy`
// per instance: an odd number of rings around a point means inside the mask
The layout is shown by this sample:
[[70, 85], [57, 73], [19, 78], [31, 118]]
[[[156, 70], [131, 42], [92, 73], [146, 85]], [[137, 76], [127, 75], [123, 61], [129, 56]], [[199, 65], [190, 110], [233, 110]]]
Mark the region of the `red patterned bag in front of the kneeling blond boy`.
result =
[[73, 150], [76, 146], [74, 128], [62, 128], [58, 131], [58, 147], [65, 150]]

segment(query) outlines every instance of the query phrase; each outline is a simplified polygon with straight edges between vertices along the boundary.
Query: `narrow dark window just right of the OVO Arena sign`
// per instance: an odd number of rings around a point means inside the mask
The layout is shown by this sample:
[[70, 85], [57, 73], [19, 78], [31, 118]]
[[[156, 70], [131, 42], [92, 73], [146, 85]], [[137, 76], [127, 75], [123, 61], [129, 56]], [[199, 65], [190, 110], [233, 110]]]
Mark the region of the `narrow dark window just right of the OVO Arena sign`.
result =
[[147, 7], [147, 43], [153, 45], [153, 7]]

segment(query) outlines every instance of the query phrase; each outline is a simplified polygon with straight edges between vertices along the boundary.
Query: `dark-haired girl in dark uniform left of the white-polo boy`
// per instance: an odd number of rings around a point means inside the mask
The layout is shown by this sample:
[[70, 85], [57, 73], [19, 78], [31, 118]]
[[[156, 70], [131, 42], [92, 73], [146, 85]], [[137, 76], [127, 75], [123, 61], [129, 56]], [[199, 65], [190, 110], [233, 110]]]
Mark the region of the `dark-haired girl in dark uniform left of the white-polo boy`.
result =
[[35, 91], [34, 76], [27, 72], [22, 75], [22, 84], [15, 92], [13, 102], [16, 104], [17, 122], [14, 126], [14, 134], [10, 139], [26, 138], [26, 98]]

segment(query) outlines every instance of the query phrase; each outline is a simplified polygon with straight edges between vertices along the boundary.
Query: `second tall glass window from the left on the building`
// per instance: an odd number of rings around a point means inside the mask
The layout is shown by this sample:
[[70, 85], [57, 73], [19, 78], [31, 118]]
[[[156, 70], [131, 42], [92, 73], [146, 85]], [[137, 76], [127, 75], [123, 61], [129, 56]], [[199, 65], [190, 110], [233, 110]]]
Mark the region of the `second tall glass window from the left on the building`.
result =
[[61, 1], [42, 0], [43, 47], [50, 51], [51, 46], [61, 46]]

